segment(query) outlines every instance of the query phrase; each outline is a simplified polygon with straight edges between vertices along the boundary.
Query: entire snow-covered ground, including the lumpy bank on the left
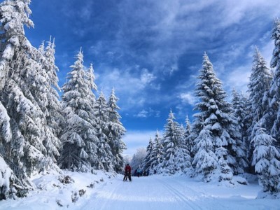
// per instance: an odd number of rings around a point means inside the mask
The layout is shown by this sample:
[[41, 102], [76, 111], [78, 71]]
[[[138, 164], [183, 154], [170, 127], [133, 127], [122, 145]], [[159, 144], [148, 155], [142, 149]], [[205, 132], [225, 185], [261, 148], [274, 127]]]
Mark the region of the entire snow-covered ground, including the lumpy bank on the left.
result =
[[280, 209], [279, 200], [255, 199], [261, 190], [255, 181], [230, 187], [155, 175], [124, 182], [120, 174], [99, 171], [42, 176], [34, 183], [37, 190], [28, 197], [3, 200], [0, 209]]

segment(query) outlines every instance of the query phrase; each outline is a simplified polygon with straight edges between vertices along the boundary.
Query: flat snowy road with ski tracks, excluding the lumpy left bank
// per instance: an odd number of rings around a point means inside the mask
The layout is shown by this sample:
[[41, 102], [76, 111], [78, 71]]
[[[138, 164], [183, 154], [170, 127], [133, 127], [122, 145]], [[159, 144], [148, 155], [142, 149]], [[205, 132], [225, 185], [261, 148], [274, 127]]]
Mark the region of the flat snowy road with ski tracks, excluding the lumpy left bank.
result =
[[[77, 209], [280, 209], [276, 200], [255, 200], [255, 188], [211, 188], [206, 183], [186, 181], [177, 177], [133, 177], [123, 182], [122, 177], [108, 183]], [[248, 188], [248, 186], [247, 186]], [[228, 192], [230, 191], [230, 192]], [[255, 194], [255, 195], [252, 195]]]

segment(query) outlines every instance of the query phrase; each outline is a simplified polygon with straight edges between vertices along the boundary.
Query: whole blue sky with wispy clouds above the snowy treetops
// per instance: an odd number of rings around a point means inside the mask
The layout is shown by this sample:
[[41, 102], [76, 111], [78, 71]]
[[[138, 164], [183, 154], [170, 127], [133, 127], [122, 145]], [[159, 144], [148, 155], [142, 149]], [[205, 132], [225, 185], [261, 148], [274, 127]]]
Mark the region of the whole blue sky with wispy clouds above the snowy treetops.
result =
[[170, 109], [179, 123], [191, 118], [204, 51], [229, 96], [246, 91], [255, 45], [269, 64], [280, 16], [278, 0], [40, 0], [30, 8], [27, 38], [38, 47], [55, 37], [60, 86], [82, 47], [99, 90], [108, 97], [115, 88], [130, 155], [163, 129]]

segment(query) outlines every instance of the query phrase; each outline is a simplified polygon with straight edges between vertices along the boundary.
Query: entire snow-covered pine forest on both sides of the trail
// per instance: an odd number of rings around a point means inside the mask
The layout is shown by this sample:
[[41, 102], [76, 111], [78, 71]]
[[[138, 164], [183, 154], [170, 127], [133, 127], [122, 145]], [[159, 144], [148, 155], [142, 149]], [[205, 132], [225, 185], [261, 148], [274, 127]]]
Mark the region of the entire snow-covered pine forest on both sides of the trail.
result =
[[[0, 200], [27, 195], [33, 174], [122, 172], [124, 165], [125, 127], [115, 91], [109, 99], [102, 92], [95, 97], [94, 69], [85, 68], [82, 49], [59, 87], [54, 39], [35, 48], [25, 36], [24, 28], [34, 26], [29, 3], [0, 4]], [[256, 173], [264, 192], [279, 193], [279, 20], [272, 39], [272, 71], [255, 48], [248, 94], [233, 90], [232, 102], [204, 53], [193, 123], [187, 117], [186, 126], [179, 125], [170, 111], [163, 136], [156, 132], [148, 144], [146, 172], [207, 182]]]

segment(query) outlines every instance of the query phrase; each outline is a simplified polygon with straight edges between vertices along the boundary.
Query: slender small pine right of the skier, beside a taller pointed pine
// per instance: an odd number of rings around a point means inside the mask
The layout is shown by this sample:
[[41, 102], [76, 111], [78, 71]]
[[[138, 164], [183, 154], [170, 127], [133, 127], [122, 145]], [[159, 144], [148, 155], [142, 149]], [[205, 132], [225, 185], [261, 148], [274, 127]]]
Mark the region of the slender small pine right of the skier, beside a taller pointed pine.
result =
[[[157, 130], [155, 133], [155, 139], [153, 144], [153, 150], [151, 153], [151, 172], [156, 173], [158, 171], [158, 166], [160, 165], [160, 162], [162, 162], [164, 149], [162, 146], [162, 139], [160, 138], [160, 134]], [[161, 169], [160, 169], [161, 171]]]

